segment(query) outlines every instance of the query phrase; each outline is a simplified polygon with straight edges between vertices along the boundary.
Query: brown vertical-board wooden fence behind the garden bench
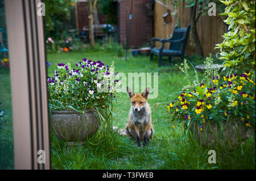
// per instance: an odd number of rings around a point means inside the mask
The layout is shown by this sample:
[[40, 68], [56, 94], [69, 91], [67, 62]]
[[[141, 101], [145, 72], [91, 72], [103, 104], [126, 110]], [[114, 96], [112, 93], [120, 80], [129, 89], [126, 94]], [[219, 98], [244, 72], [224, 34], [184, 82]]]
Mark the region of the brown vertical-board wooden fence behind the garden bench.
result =
[[[162, 0], [159, 0], [162, 2]], [[174, 12], [174, 7], [171, 6], [170, 1], [166, 1], [166, 5]], [[180, 24], [180, 27], [187, 27], [189, 25], [189, 7], [186, 7], [185, 1], [180, 1], [179, 6], [177, 6], [176, 15], [172, 15], [172, 22], [164, 24], [163, 15], [166, 14], [167, 7], [160, 5], [160, 3], [155, 2], [154, 7], [154, 37], [166, 39], [172, 36], [176, 24]], [[197, 33], [199, 35], [199, 40], [204, 53], [204, 56], [209, 56], [209, 53], [217, 53], [219, 50], [214, 49], [216, 44], [223, 41], [222, 35], [226, 32], [226, 26], [223, 22], [224, 17], [201, 15], [199, 21], [197, 22]], [[156, 46], [160, 46], [160, 43], [156, 43]], [[168, 45], [166, 47], [168, 48]], [[193, 37], [189, 35], [187, 47], [185, 54], [192, 56], [196, 54], [195, 44], [193, 43]]]

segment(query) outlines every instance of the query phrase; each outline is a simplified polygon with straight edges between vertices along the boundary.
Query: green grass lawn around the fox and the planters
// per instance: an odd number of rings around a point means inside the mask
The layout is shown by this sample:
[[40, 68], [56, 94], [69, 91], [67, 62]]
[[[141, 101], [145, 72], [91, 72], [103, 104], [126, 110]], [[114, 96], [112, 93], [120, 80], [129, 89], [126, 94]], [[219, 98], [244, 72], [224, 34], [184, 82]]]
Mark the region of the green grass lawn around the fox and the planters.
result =
[[[173, 121], [174, 131], [170, 124], [170, 114], [166, 104], [154, 107], [155, 103], [166, 102], [168, 95], [180, 91], [187, 85], [183, 74], [177, 66], [158, 68], [155, 61], [150, 62], [148, 56], [129, 57], [127, 61], [116, 57], [112, 53], [84, 52], [47, 54], [51, 63], [48, 74], [56, 69], [58, 63], [76, 62], [88, 58], [100, 60], [104, 64], [114, 62], [115, 71], [128, 73], [159, 72], [158, 98], [149, 99], [152, 109], [152, 123], [154, 125], [154, 139], [147, 147], [138, 148], [135, 141], [129, 137], [114, 134], [114, 139], [94, 134], [85, 145], [73, 146], [67, 151], [65, 142], [51, 133], [51, 160], [52, 169], [255, 169], [255, 144], [251, 140], [241, 149], [222, 155], [217, 152], [217, 163], [208, 163], [209, 149], [201, 148], [197, 142], [184, 137], [181, 132], [182, 124]], [[180, 64], [180, 62], [177, 62]], [[199, 62], [193, 61], [198, 64]], [[193, 71], [189, 72], [195, 77]], [[127, 93], [119, 94], [113, 106], [113, 125], [125, 128], [130, 109]], [[221, 157], [221, 161], [220, 161]]]

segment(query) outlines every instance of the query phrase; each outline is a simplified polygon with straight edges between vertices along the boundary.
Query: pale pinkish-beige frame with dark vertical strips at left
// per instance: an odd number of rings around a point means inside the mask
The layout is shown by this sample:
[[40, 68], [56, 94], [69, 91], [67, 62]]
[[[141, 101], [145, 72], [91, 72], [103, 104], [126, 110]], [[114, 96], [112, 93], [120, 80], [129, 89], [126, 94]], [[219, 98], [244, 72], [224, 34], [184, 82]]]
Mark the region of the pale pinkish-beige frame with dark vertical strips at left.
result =
[[[5, 0], [15, 169], [51, 169], [44, 20], [37, 14], [40, 2]], [[39, 150], [44, 150], [45, 163], [38, 162]]]

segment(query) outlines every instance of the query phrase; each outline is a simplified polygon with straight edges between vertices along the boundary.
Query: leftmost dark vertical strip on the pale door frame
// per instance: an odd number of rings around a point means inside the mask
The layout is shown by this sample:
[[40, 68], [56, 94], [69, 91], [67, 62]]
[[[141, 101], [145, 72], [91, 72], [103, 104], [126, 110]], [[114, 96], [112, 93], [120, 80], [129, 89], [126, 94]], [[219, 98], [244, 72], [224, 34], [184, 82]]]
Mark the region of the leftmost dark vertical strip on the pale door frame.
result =
[[22, 0], [22, 9], [23, 9], [23, 20], [24, 20], [24, 32], [25, 32], [25, 42], [26, 42], [26, 57], [27, 57], [27, 79], [28, 79], [28, 99], [29, 99], [29, 107], [30, 107], [30, 142], [31, 142], [31, 169], [34, 169], [34, 138], [33, 138], [33, 129], [32, 129], [32, 112], [31, 112], [31, 79], [30, 79], [30, 57], [28, 56], [28, 42], [27, 42], [27, 19], [26, 19], [26, 7], [25, 0]]

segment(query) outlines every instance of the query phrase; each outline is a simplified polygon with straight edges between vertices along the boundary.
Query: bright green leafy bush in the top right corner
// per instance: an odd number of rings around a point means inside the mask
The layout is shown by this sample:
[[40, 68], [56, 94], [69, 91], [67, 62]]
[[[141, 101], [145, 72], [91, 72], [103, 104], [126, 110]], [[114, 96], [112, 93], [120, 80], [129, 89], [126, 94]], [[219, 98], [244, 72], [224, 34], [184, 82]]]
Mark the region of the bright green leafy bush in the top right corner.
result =
[[226, 0], [225, 20], [229, 32], [224, 34], [224, 41], [217, 44], [221, 49], [221, 59], [225, 66], [236, 71], [255, 69], [255, 1]]

